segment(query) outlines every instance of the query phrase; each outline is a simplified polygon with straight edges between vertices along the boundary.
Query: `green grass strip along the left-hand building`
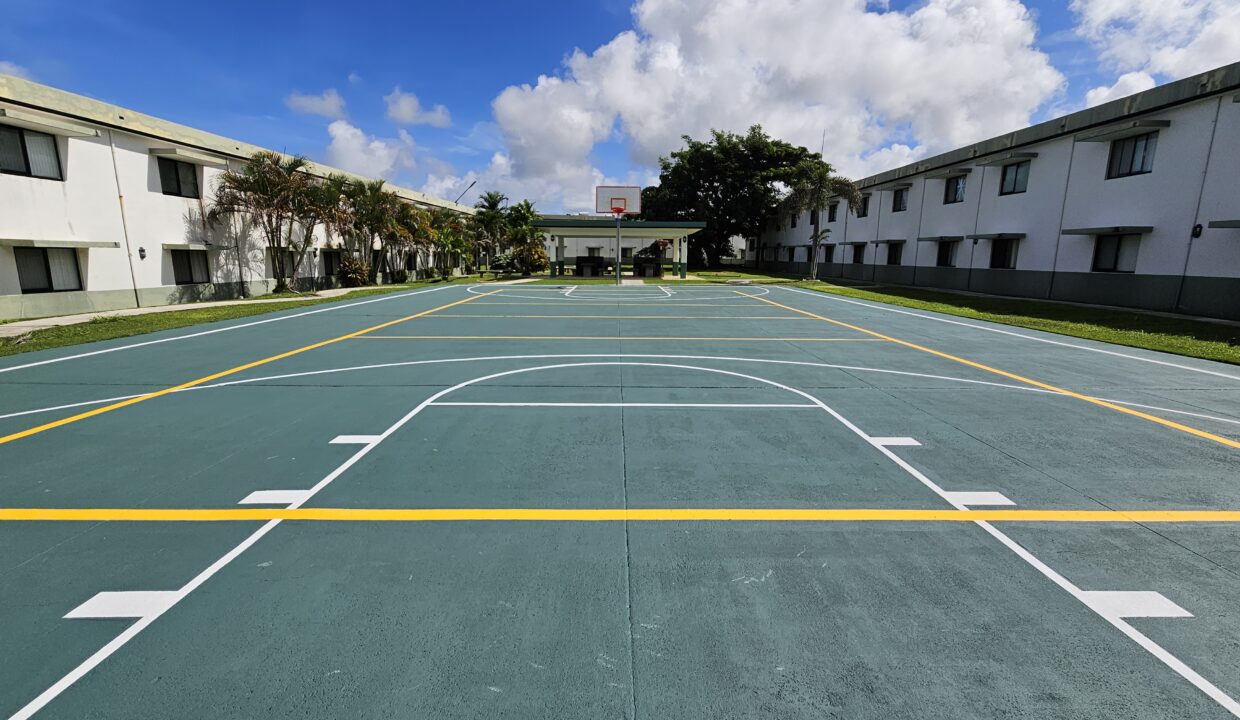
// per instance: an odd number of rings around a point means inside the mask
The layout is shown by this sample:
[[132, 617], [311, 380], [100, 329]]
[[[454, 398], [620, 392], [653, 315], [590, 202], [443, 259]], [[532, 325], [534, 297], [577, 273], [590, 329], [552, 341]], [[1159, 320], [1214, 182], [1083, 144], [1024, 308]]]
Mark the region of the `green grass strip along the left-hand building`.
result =
[[[476, 283], [477, 280], [455, 279], [453, 281], [458, 284], [465, 284], [465, 283]], [[53, 347], [64, 347], [83, 342], [97, 342], [100, 340], [113, 340], [118, 337], [145, 335], [148, 332], [157, 332], [160, 330], [174, 330], [177, 327], [200, 325], [203, 322], [216, 322], [217, 320], [234, 320], [238, 317], [249, 317], [252, 315], [279, 312], [281, 310], [293, 310], [295, 307], [305, 307], [309, 305], [322, 305], [325, 302], [341, 302], [360, 297], [367, 297], [371, 295], [386, 295], [388, 292], [401, 292], [404, 290], [428, 288], [430, 285], [435, 285], [443, 281], [441, 280], [419, 281], [419, 283], [409, 283], [405, 285], [382, 285], [379, 288], [363, 288], [361, 290], [355, 290], [353, 292], [350, 292], [348, 295], [343, 295], [341, 297], [306, 297], [305, 300], [290, 300], [288, 302], [243, 302], [239, 305], [221, 305], [217, 307], [193, 307], [192, 305], [187, 305], [186, 310], [177, 310], [171, 312], [151, 312], [149, 315], [130, 315], [120, 317], [117, 316], [97, 317], [89, 322], [81, 322], [78, 325], [48, 327], [47, 330], [36, 330], [24, 336], [0, 338], [0, 357], [17, 354], [22, 352], [50, 349]], [[294, 295], [291, 294], [262, 295], [258, 297], [252, 297], [250, 300], [263, 300], [263, 299], [285, 297], [285, 296], [294, 296]]]

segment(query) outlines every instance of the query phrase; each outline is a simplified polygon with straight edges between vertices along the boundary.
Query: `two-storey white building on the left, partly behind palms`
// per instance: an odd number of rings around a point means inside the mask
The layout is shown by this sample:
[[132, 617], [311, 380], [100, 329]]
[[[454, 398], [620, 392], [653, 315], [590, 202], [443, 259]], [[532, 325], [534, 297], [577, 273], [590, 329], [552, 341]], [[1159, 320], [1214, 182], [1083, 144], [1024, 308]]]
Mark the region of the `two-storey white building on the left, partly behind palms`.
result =
[[[0, 318], [270, 291], [262, 238], [203, 221], [215, 178], [259, 150], [0, 74]], [[339, 261], [320, 230], [298, 274], [331, 285]]]

